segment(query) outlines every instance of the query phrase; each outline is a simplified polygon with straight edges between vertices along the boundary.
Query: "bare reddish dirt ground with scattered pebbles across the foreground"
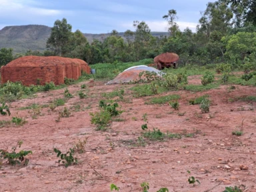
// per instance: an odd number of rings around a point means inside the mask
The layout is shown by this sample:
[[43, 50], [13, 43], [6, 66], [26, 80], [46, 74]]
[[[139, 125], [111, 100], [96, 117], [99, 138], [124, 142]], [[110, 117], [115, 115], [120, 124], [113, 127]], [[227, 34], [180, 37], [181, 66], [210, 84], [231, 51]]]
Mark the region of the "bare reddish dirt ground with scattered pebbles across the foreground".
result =
[[[199, 84], [200, 76], [189, 77], [189, 83]], [[104, 85], [89, 83], [89, 97], [79, 99], [79, 85], [71, 85], [75, 95], [65, 107], [79, 104], [83, 111], [72, 111], [71, 117], [55, 120], [57, 107], [33, 119], [31, 109], [19, 110], [33, 103], [49, 104], [55, 98], [63, 98], [64, 89], [38, 93], [35, 99], [23, 99], [11, 103], [11, 116], [25, 117], [27, 124], [0, 128], [0, 149], [11, 147], [22, 140], [21, 149], [33, 151], [29, 165], [13, 167], [3, 164], [0, 169], [0, 191], [110, 191], [115, 183], [120, 191], [142, 191], [140, 184], [148, 182], [149, 191], [161, 187], [169, 191], [224, 191], [225, 187], [246, 185], [245, 191], [256, 191], [256, 103], [230, 102], [230, 98], [256, 95], [256, 87], [221, 85], [219, 89], [193, 93], [171, 91], [162, 95], [179, 94], [179, 111], [173, 111], [168, 103], [145, 105], [150, 97], [133, 98], [129, 89], [135, 85]], [[126, 121], [111, 123], [108, 131], [95, 131], [89, 112], [99, 111], [101, 93], [125, 89], [124, 101], [118, 103], [125, 111], [120, 118]], [[189, 105], [189, 99], [208, 94], [212, 101], [210, 113], [201, 114], [199, 105]], [[156, 96], [153, 96], [156, 97]], [[129, 102], [127, 100], [130, 99]], [[125, 102], [126, 101], [126, 102]], [[252, 111], [254, 109], [254, 111]], [[184, 116], [178, 113], [186, 112]], [[149, 129], [162, 132], [194, 133], [193, 137], [146, 141], [145, 147], [135, 145], [141, 136], [143, 114], [147, 113]], [[0, 116], [1, 120], [11, 117]], [[137, 121], [135, 121], [137, 120]], [[242, 123], [243, 122], [243, 123]], [[243, 127], [241, 137], [232, 135]], [[65, 152], [74, 143], [87, 138], [85, 153], [75, 154], [79, 163], [65, 168], [59, 165], [56, 147]], [[243, 165], [245, 170], [241, 170]], [[187, 171], [190, 171], [189, 174]], [[187, 179], [194, 176], [201, 185], [189, 185]]]

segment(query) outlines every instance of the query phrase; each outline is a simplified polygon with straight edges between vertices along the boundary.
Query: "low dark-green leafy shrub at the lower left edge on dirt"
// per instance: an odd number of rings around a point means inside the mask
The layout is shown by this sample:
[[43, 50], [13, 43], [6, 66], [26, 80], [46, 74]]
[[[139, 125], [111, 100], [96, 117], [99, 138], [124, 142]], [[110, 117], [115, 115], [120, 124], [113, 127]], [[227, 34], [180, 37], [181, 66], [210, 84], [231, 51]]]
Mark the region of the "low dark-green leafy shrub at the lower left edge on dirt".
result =
[[11, 153], [4, 149], [0, 149], [0, 159], [7, 159], [7, 163], [10, 165], [27, 165], [29, 163], [29, 159], [25, 158], [25, 156], [32, 154], [32, 151], [24, 151], [21, 150], [19, 153], [16, 152], [17, 147], [21, 148], [23, 141], [18, 141], [15, 147], [12, 147]]

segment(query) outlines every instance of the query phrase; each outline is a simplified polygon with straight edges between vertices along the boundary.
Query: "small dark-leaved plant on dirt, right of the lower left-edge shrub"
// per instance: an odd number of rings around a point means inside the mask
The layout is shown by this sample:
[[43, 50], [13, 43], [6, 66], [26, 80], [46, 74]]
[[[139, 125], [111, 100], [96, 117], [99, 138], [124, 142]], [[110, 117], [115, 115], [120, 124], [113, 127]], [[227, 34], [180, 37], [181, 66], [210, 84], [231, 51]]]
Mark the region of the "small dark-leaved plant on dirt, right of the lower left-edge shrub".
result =
[[61, 159], [58, 161], [59, 163], [63, 163], [65, 167], [69, 167], [72, 164], [77, 164], [77, 158], [73, 157], [73, 153], [75, 153], [74, 149], [69, 149], [67, 153], [62, 153], [59, 149], [54, 148], [54, 152], [57, 153], [57, 157]]

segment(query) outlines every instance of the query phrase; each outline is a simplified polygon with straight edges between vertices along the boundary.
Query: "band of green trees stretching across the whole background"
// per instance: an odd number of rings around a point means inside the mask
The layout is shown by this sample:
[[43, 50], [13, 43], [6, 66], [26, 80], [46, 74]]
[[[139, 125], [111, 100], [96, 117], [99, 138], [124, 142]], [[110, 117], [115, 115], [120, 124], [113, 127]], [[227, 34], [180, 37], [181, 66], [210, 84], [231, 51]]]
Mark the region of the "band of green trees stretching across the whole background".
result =
[[[219, 0], [207, 3], [201, 13], [196, 32], [179, 29], [177, 11], [171, 9], [163, 15], [169, 35], [153, 37], [144, 21], [134, 21], [134, 31], [127, 30], [124, 38], [116, 30], [99, 41], [89, 43], [86, 37], [67, 19], [55, 21], [47, 40], [47, 51], [27, 51], [25, 55], [71, 57], [89, 64], [133, 62], [173, 52], [180, 56], [180, 63], [206, 65], [229, 62], [233, 65], [253, 62], [256, 59], [256, 1]], [[23, 55], [13, 55], [12, 49], [0, 49], [0, 65]]]

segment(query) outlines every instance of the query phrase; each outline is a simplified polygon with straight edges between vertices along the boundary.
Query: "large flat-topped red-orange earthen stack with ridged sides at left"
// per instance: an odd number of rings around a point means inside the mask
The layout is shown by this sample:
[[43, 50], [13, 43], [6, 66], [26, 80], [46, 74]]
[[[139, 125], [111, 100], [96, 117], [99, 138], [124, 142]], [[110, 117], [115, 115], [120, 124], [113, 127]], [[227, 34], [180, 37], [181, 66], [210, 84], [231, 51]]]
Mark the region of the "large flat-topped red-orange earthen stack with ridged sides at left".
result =
[[[21, 81], [23, 85], [64, 83], [64, 78], [78, 79], [81, 71], [91, 73], [89, 65], [81, 59], [66, 57], [26, 56], [1, 67], [1, 83]], [[40, 79], [40, 80], [39, 80]]]

